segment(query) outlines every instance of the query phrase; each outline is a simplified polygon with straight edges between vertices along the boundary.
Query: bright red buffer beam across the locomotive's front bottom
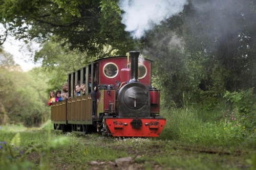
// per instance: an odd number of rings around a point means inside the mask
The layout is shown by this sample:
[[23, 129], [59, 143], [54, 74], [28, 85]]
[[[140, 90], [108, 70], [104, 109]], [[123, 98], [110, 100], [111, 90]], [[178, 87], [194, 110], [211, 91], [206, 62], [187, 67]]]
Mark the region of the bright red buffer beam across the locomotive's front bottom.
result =
[[[134, 129], [131, 126], [133, 119], [134, 118], [106, 118], [105, 122], [112, 135], [120, 137], [159, 137], [166, 123], [165, 118], [140, 118], [142, 120], [142, 127]], [[117, 123], [117, 125], [115, 123]], [[124, 125], [125, 123], [127, 125]], [[145, 125], [145, 123], [148, 125]], [[158, 125], [155, 125], [155, 123]]]

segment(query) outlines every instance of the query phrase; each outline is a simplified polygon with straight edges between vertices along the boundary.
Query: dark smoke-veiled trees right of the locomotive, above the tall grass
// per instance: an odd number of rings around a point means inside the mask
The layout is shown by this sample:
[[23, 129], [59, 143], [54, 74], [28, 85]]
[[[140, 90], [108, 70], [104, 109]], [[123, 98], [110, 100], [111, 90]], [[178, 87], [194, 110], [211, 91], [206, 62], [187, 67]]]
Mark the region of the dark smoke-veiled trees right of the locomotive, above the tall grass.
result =
[[194, 0], [148, 32], [145, 51], [156, 60], [165, 101], [212, 104], [226, 90], [254, 87], [255, 21], [250, 1]]

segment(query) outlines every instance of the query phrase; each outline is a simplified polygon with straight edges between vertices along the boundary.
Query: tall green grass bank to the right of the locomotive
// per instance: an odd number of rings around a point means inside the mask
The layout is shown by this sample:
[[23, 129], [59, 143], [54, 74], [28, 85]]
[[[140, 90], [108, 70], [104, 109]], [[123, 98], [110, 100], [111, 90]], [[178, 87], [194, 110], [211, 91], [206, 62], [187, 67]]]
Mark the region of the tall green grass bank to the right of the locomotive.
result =
[[223, 114], [218, 122], [203, 122], [198, 118], [198, 111], [193, 108], [175, 108], [162, 115], [166, 117], [167, 124], [160, 139], [208, 146], [256, 148], [256, 128], [248, 128], [248, 122], [243, 119], [245, 116], [234, 111]]

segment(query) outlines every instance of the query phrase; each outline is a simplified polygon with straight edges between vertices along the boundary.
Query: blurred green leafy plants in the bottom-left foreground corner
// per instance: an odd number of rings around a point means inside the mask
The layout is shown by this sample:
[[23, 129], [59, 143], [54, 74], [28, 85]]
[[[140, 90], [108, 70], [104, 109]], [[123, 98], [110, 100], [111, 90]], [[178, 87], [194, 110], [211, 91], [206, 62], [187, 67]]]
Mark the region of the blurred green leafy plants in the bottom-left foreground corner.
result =
[[40, 166], [42, 169], [49, 169], [49, 155], [52, 150], [56, 150], [61, 145], [69, 143], [67, 137], [55, 138], [49, 141], [46, 147], [41, 148], [41, 144], [31, 141], [29, 145], [20, 147], [20, 134], [17, 133], [9, 143], [8, 141], [0, 142], [0, 169], [30, 169], [35, 164], [28, 161], [27, 155], [36, 152], [41, 155]]

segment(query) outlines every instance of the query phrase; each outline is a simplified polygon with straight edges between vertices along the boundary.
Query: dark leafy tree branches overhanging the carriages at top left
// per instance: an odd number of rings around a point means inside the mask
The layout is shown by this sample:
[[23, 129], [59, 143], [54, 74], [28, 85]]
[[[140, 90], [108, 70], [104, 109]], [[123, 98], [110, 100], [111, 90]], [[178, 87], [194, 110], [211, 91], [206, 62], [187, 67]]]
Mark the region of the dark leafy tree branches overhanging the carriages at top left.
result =
[[0, 20], [18, 39], [56, 42], [87, 56], [123, 55], [134, 47], [120, 22], [118, 1], [2, 1]]

